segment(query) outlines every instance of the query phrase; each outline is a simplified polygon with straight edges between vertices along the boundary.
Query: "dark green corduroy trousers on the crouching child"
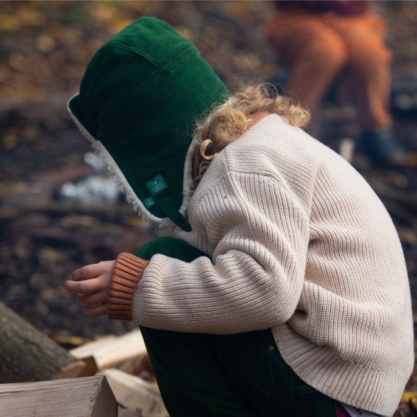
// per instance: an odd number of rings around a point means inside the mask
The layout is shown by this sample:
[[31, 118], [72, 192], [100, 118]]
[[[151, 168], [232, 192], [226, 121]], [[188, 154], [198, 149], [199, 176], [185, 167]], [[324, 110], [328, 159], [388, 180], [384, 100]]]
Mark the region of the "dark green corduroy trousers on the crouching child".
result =
[[[185, 253], [186, 252], [186, 253]], [[136, 252], [192, 261], [204, 255], [159, 238]], [[170, 417], [336, 417], [336, 402], [305, 384], [284, 362], [271, 329], [238, 334], [141, 327]]]

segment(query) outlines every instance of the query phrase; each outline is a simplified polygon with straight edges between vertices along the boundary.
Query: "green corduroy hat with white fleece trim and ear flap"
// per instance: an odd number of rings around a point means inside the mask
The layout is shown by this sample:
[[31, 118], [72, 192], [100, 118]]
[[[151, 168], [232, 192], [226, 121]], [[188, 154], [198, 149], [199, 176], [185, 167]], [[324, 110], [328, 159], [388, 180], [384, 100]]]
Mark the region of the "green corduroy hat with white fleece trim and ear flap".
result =
[[68, 110], [144, 219], [190, 231], [193, 126], [228, 95], [190, 41], [144, 17], [95, 53]]

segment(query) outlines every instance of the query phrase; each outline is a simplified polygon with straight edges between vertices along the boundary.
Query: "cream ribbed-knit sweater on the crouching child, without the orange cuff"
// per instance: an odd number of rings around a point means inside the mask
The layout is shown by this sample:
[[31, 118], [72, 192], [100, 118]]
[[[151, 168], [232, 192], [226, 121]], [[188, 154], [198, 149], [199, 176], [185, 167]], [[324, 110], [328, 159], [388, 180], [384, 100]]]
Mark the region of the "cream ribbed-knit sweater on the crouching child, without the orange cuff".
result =
[[180, 332], [271, 328], [284, 360], [341, 402], [392, 415], [413, 369], [394, 225], [337, 153], [270, 115], [211, 163], [178, 237], [212, 256], [155, 255], [133, 321]]

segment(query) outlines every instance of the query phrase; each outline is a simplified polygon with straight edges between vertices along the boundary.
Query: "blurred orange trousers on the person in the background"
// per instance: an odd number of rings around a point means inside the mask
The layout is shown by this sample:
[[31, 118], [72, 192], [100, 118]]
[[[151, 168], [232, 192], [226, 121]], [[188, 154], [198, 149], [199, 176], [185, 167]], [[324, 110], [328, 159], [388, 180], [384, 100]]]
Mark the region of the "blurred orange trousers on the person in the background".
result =
[[374, 13], [340, 16], [285, 10], [266, 24], [280, 58], [291, 65], [286, 93], [312, 113], [334, 78], [346, 70], [363, 130], [389, 128], [391, 53]]

